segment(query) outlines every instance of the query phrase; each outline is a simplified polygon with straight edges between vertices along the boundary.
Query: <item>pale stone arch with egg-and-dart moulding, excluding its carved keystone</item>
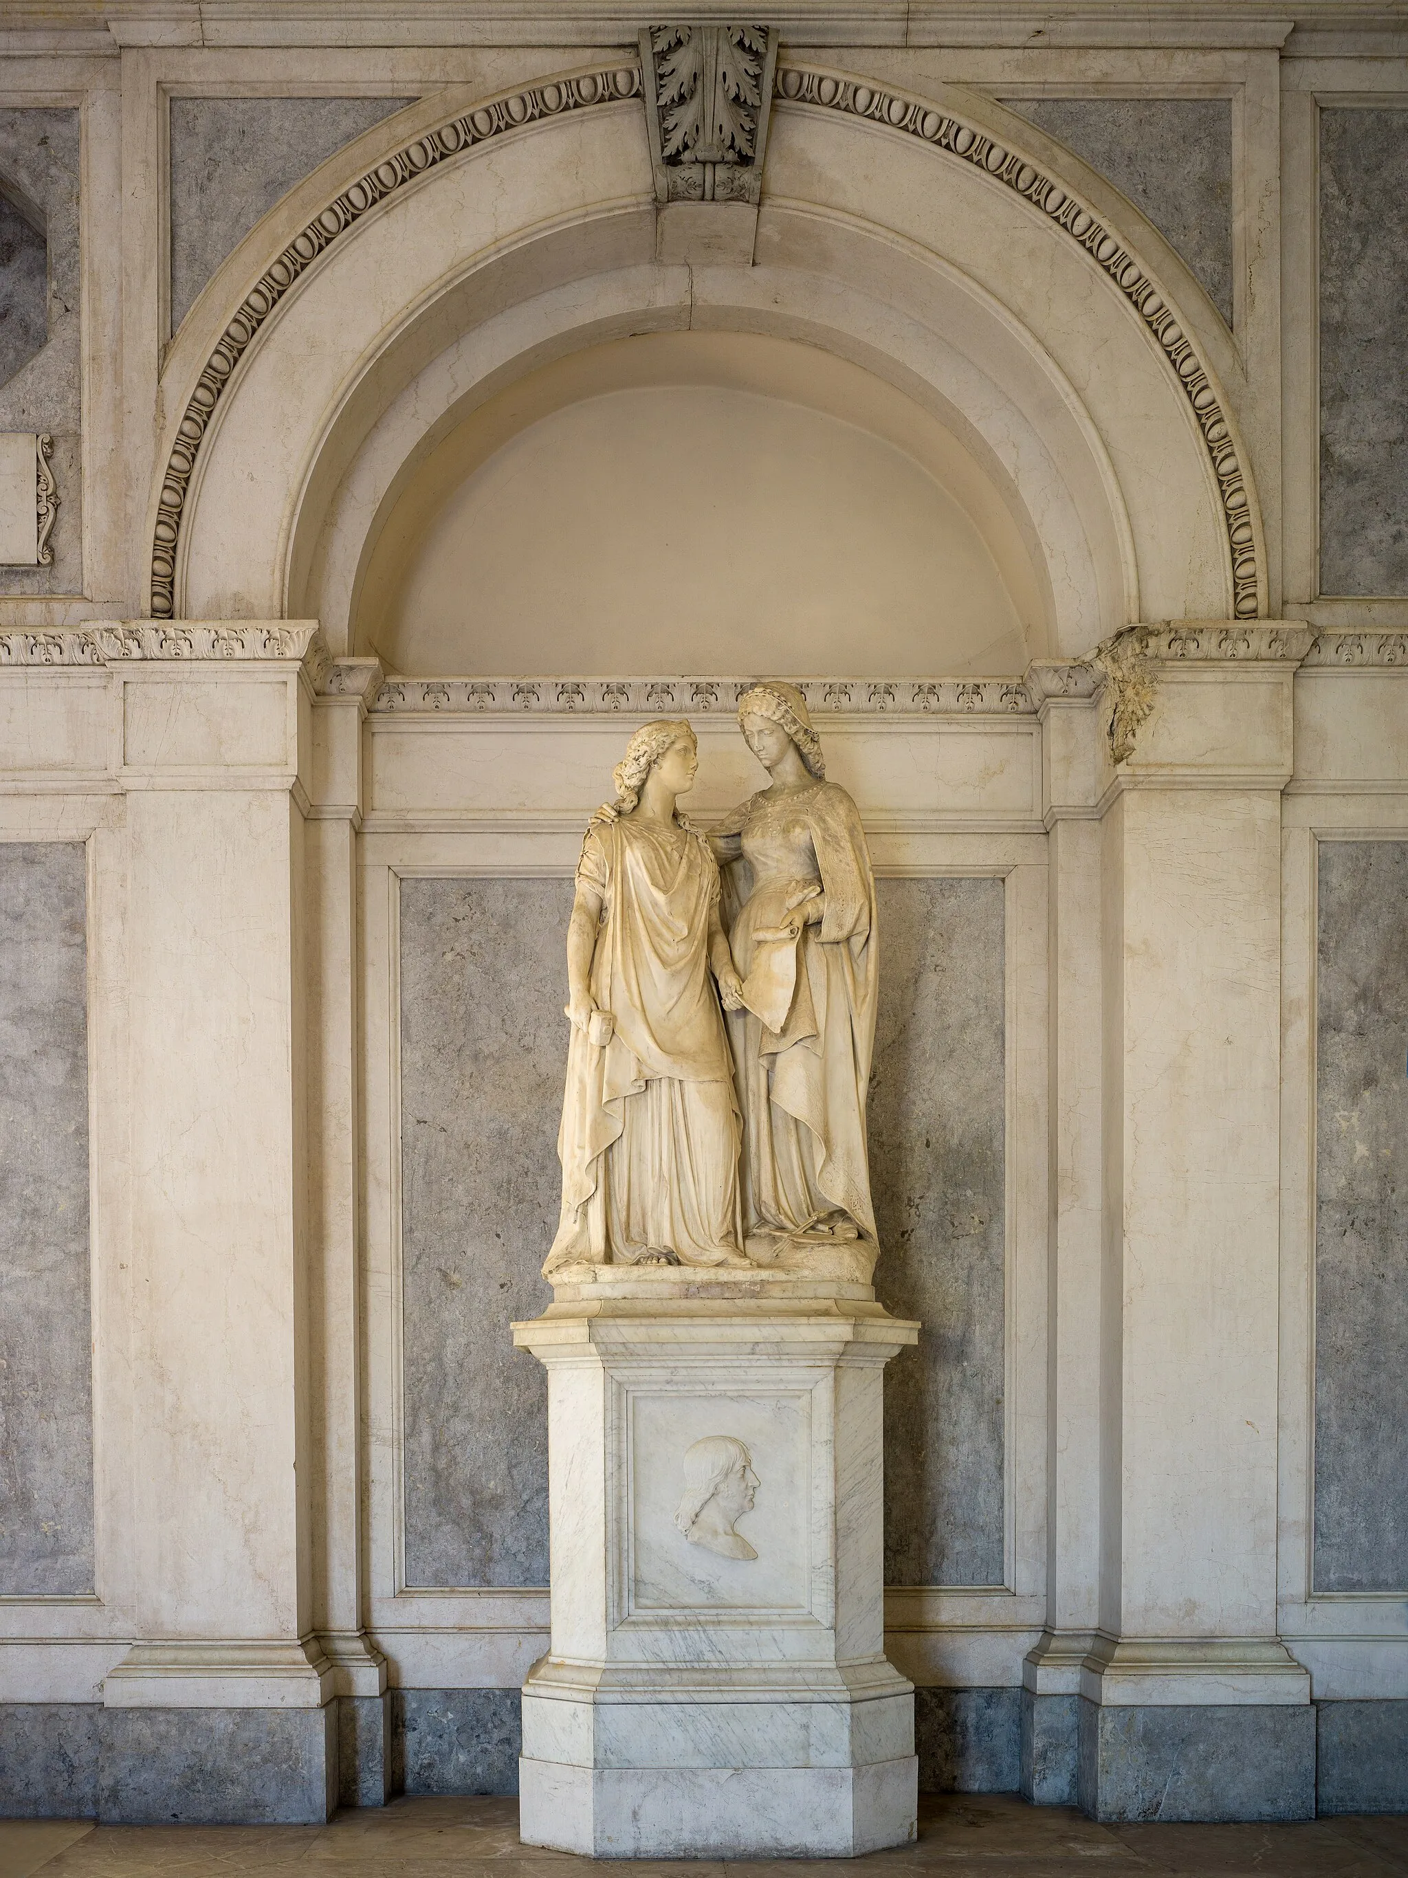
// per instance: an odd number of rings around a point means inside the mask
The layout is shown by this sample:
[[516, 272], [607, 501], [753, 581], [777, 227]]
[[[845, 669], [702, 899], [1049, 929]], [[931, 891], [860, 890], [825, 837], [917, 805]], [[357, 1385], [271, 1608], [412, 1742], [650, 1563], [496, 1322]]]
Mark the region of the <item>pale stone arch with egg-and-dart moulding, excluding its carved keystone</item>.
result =
[[1128, 242], [1019, 152], [783, 66], [757, 265], [668, 267], [635, 68], [434, 103], [293, 233], [173, 400], [154, 614], [312, 610], [351, 650], [377, 530], [452, 423], [554, 357], [691, 325], [820, 346], [950, 424], [1029, 545], [1044, 650], [1265, 610], [1211, 368]]

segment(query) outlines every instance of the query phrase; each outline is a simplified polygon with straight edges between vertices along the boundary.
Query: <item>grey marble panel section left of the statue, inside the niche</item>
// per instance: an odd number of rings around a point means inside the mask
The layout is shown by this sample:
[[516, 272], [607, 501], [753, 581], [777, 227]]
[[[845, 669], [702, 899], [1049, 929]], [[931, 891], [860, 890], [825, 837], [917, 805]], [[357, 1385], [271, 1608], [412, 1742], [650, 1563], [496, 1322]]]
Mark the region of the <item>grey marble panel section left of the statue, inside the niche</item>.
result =
[[406, 1578], [546, 1585], [571, 881], [402, 881]]

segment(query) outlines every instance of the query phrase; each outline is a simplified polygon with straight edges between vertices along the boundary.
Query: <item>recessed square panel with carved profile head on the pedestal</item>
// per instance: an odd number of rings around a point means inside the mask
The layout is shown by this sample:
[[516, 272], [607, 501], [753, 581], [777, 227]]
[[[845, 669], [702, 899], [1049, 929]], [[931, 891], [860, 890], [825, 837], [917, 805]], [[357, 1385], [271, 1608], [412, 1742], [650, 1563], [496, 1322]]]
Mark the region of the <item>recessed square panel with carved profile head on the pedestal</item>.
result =
[[629, 1401], [631, 1611], [805, 1611], [809, 1392]]

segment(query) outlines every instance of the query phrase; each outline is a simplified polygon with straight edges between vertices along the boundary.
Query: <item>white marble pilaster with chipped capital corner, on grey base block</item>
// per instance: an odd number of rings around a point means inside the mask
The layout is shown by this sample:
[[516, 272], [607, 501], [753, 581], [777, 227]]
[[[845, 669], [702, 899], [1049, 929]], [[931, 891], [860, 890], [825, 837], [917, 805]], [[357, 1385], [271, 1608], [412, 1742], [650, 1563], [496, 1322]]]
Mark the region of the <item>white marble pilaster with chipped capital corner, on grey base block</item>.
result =
[[1078, 1694], [1098, 1818], [1314, 1810], [1275, 1583], [1280, 791], [1309, 642], [1200, 622], [1096, 654], [1100, 1596]]

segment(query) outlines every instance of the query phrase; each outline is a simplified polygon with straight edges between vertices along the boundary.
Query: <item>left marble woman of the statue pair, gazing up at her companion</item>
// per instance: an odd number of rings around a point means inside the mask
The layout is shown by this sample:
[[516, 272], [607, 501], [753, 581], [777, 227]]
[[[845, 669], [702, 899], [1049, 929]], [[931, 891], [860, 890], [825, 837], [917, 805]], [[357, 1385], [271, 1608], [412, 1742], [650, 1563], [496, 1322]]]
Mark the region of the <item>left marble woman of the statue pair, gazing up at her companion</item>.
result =
[[644, 725], [582, 843], [567, 931], [561, 1221], [544, 1277], [576, 1264], [749, 1262], [719, 1010], [719, 995], [734, 1005], [742, 986], [719, 924], [719, 868], [676, 808], [696, 768], [687, 723]]

